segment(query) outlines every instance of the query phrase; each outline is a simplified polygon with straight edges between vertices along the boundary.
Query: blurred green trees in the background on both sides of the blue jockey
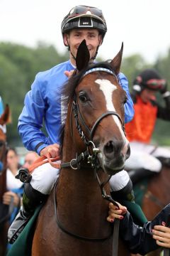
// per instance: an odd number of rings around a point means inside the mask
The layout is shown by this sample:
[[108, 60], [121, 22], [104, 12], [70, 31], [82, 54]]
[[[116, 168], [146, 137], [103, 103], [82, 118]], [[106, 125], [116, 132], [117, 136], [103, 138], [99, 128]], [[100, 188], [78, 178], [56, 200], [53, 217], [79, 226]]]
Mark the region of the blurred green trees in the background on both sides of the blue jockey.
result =
[[[4, 104], [8, 103], [10, 106], [12, 114], [12, 123], [7, 125], [8, 144], [13, 146], [22, 144], [17, 131], [18, 116], [36, 73], [52, 68], [68, 58], [67, 51], [60, 54], [54, 46], [42, 42], [39, 42], [35, 48], [15, 43], [0, 43], [0, 95]], [[148, 64], [140, 54], [123, 58], [121, 71], [127, 76], [130, 88], [136, 75], [148, 67], [156, 68], [170, 85], [170, 48], [165, 56], [159, 56], [152, 65]], [[153, 137], [155, 143], [169, 146], [169, 124], [169, 122], [157, 121]]]

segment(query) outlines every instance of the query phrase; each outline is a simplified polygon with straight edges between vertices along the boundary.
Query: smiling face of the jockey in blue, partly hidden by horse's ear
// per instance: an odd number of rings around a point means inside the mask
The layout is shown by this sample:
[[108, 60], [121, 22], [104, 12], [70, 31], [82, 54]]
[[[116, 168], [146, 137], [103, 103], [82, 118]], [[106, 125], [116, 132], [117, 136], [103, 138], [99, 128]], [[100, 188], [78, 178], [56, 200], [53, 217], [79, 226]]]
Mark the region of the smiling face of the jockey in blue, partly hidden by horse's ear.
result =
[[[64, 36], [64, 43], [69, 45], [70, 51], [76, 57], [77, 49], [83, 40], [86, 40], [86, 45], [89, 49], [90, 58], [96, 54], [97, 47], [101, 45], [102, 38], [96, 28], [75, 28]], [[70, 54], [70, 60], [73, 65], [76, 65], [74, 58]]]

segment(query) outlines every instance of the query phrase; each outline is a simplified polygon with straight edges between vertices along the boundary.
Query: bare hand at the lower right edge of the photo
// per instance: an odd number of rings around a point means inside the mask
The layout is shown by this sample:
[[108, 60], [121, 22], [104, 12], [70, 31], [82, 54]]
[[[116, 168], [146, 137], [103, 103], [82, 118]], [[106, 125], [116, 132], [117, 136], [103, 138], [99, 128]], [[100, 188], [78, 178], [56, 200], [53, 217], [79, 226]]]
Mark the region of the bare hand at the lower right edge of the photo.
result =
[[155, 225], [152, 234], [157, 245], [170, 248], [170, 228], [165, 227], [165, 223], [162, 223], [162, 225]]

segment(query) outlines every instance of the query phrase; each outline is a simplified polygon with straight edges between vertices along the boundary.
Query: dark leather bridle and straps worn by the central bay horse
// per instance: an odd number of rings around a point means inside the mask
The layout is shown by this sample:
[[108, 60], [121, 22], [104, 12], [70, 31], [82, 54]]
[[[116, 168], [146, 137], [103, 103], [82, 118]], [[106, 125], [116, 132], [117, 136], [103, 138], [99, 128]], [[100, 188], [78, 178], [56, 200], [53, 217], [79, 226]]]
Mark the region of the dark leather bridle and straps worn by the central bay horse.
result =
[[[118, 80], [117, 75], [115, 75], [115, 73], [113, 73], [113, 71], [111, 71], [107, 68], [92, 68], [91, 70], [88, 70], [84, 74], [84, 76], [88, 75], [89, 73], [96, 72], [96, 71], [104, 71], [106, 73], [110, 73], [113, 76], [115, 76], [115, 78]], [[98, 162], [97, 154], [100, 152], [100, 149], [96, 148], [96, 146], [93, 142], [94, 133], [95, 133], [97, 127], [98, 127], [98, 124], [101, 122], [102, 119], [104, 119], [105, 117], [108, 117], [108, 115], [115, 115], [116, 117], [118, 117], [118, 119], [120, 121], [120, 124], [122, 125], [123, 132], [125, 133], [124, 122], [120, 118], [120, 115], [117, 112], [114, 112], [114, 111], [108, 111], [108, 112], [105, 112], [105, 113], [101, 114], [101, 116], [98, 117], [98, 119], [96, 119], [96, 122], [94, 122], [93, 127], [91, 129], [89, 129], [89, 127], [87, 127], [87, 125], [86, 125], [86, 122], [84, 122], [84, 118], [82, 117], [82, 114], [79, 110], [79, 104], [78, 104], [77, 95], [76, 95], [76, 92], [75, 92], [74, 100], [72, 102], [72, 115], [71, 115], [71, 118], [70, 118], [71, 134], [72, 134], [72, 137], [73, 137], [72, 117], [74, 116], [74, 121], [76, 123], [77, 131], [79, 132], [79, 136], [81, 137], [84, 144], [86, 145], [86, 150], [81, 152], [81, 154], [79, 154], [79, 156], [77, 156], [76, 159], [72, 159], [70, 162], [67, 162], [67, 163], [62, 163], [61, 167], [62, 168], [71, 167], [72, 169], [79, 169], [81, 161], [83, 161], [87, 157], [88, 164], [91, 164], [91, 167], [94, 169], [94, 176], [98, 181], [98, 185], [101, 189], [102, 197], [118, 207], [118, 203], [116, 203], [113, 200], [113, 198], [111, 198], [111, 196], [108, 196], [106, 194], [105, 189], [104, 189], [104, 186], [110, 180], [111, 175], [108, 175], [108, 178], [106, 179], [106, 181], [103, 181], [103, 182], [101, 182], [100, 178], [98, 177], [98, 169], [100, 169], [101, 166]], [[88, 134], [88, 137], [86, 137], [86, 135], [84, 134], [82, 127], [84, 127], [86, 129], [86, 134]], [[89, 151], [89, 147], [92, 148], [92, 154]], [[55, 198], [55, 206], [56, 205], [57, 205], [57, 202], [56, 202], [56, 198]], [[74, 238], [78, 238], [78, 239], [81, 239], [81, 240], [88, 240], [88, 241], [91, 241], [91, 242], [101, 242], [101, 241], [107, 240], [108, 238], [111, 238], [112, 233], [110, 235], [108, 235], [106, 238], [86, 238], [86, 237], [82, 237], [80, 235], [74, 234], [74, 233], [70, 232], [69, 230], [67, 230], [66, 228], [64, 228], [60, 219], [57, 216], [56, 207], [55, 207], [55, 211], [56, 211], [55, 215], [56, 215], [57, 225], [59, 226], [59, 228], [64, 233], [67, 233], [67, 235], [71, 235]], [[119, 232], [119, 220], [115, 219], [114, 233], [113, 233], [113, 255], [118, 255], [118, 232]]]

